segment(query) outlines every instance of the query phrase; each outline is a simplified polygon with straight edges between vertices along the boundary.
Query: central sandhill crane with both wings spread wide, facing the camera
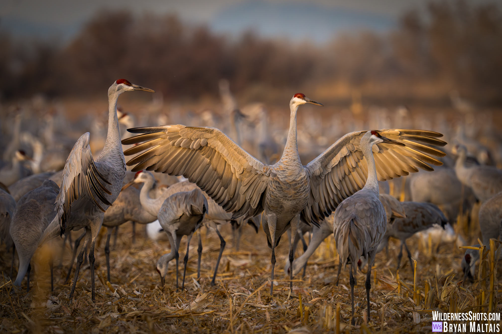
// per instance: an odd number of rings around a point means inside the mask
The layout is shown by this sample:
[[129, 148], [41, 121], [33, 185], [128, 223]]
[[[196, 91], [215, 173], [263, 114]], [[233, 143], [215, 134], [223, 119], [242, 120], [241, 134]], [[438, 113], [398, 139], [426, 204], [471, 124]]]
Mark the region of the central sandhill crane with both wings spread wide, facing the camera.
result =
[[[307, 224], [319, 223], [338, 203], [364, 186], [366, 162], [360, 139], [365, 131], [351, 132], [340, 138], [306, 166], [300, 161], [297, 145], [296, 114], [305, 103], [322, 105], [298, 93], [290, 101], [290, 128], [281, 159], [274, 165], [260, 162], [216, 128], [165, 125], [129, 129], [140, 135], [122, 140], [123, 144], [141, 143], [126, 150], [138, 154], [128, 165], [170, 175], [183, 175], [197, 184], [234, 218], [248, 219], [262, 211], [263, 229], [272, 248], [271, 292], [273, 288], [275, 247], [291, 226], [296, 236], [300, 217]], [[374, 147], [381, 180], [433, 170], [427, 163], [441, 165], [428, 154], [443, 156], [429, 145], [444, 145], [441, 134], [425, 130], [382, 130], [406, 146], [386, 143]], [[290, 239], [290, 264], [294, 240]], [[291, 276], [292, 277], [292, 276]], [[290, 288], [293, 283], [290, 282]]]

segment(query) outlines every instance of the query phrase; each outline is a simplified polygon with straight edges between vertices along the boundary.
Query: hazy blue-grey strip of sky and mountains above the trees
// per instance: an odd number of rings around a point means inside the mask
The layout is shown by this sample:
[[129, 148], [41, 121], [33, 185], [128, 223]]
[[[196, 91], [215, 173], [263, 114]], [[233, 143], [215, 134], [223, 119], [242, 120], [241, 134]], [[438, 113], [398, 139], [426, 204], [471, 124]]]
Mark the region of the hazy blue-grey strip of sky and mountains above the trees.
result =
[[[490, 0], [475, 2], [492, 3]], [[426, 3], [426, 0], [385, 0], [375, 6], [370, 0], [186, 0], [182, 3], [151, 0], [141, 4], [132, 0], [91, 0], [86, 4], [64, 0], [48, 0], [43, 4], [36, 0], [10, 1], [0, 4], [0, 31], [15, 38], [55, 39], [66, 43], [100, 11], [128, 10], [135, 16], [176, 15], [184, 23], [205, 25], [212, 32], [230, 38], [253, 31], [265, 38], [324, 44], [344, 32], [388, 32], [397, 25], [400, 15], [412, 9], [421, 10]]]

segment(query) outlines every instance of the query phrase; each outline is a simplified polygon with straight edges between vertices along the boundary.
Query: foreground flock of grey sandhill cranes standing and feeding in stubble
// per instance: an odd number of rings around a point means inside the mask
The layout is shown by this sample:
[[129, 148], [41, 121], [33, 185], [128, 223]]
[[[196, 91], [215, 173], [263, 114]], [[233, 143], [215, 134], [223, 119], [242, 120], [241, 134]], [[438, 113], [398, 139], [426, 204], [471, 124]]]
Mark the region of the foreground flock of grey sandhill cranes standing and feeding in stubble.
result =
[[[70, 231], [83, 229], [81, 237], [75, 241], [67, 277], [68, 280], [77, 246], [83, 238], [70, 299], [88, 248], [91, 296], [95, 300], [94, 252], [101, 227], [108, 230], [104, 252], [107, 280], [110, 281], [112, 230], [128, 221], [149, 224], [155, 220], [166, 232], [171, 246], [170, 252], [161, 256], [156, 264], [162, 286], [168, 263], [175, 259], [175, 286], [178, 289], [180, 241], [187, 236], [181, 285], [184, 288], [190, 240], [201, 226], [215, 230], [220, 239], [211, 281], [214, 285], [226, 244], [219, 227], [231, 224], [240, 231], [244, 225], [250, 224], [258, 232], [261, 220], [272, 251], [271, 295], [275, 249], [285, 232], [289, 232], [290, 244], [285, 267], [290, 274], [290, 293], [293, 275], [302, 268], [305, 275], [308, 258], [327, 236], [334, 234], [339, 256], [338, 275], [342, 266], [349, 266], [354, 323], [356, 270], [367, 263], [365, 288], [367, 321], [370, 321], [371, 267], [376, 253], [388, 246], [390, 237], [401, 241], [398, 268], [403, 247], [412, 262], [406, 239], [431, 226], [444, 227], [448, 221], [453, 222], [458, 210], [449, 211], [449, 208], [455, 205], [458, 208], [468, 194], [483, 203], [479, 212], [482, 242], [486, 244], [489, 238], [497, 238], [502, 229], [502, 210], [499, 209], [502, 197], [498, 194], [502, 191], [502, 172], [494, 166], [472, 164], [462, 144], [454, 148], [456, 161], [449, 160], [441, 148], [446, 145], [446, 141], [439, 139], [441, 133], [417, 129], [349, 132], [303, 165], [298, 150], [297, 114], [301, 105], [323, 105], [302, 93], [295, 94], [290, 101], [289, 130], [283, 153], [279, 155], [274, 138], [269, 131], [263, 131], [268, 122], [263, 105], [255, 109], [239, 109], [227, 82], [220, 84], [220, 90], [224, 109], [232, 115], [231, 126], [237, 134], [236, 142], [214, 127], [161, 125], [129, 128], [128, 131], [135, 135], [121, 131], [120, 124], [130, 127], [134, 122], [126, 113], [117, 111], [118, 96], [132, 90], [155, 92], [125, 79], [113, 82], [108, 89], [106, 140], [99, 155], [93, 157], [90, 134], [84, 133], [67, 155], [64, 168], [54, 171], [56, 173], [45, 172], [40, 167], [44, 160], [41, 141], [33, 135], [20, 134], [21, 121], [16, 115], [14, 134], [3, 155], [4, 161], [11, 161], [11, 164], [6, 163], [0, 171], [0, 237], [7, 250], [13, 249], [13, 264], [15, 250], [19, 257], [14, 285], [21, 285], [28, 273], [29, 288], [30, 260], [37, 246], [63, 235], [66, 241]], [[246, 126], [261, 129], [254, 138], [254, 151], [259, 152], [260, 159], [242, 148], [246, 138], [239, 135], [239, 126], [246, 122]], [[23, 138], [33, 147], [33, 157], [20, 149]], [[25, 161], [35, 174], [25, 175]], [[127, 166], [132, 169], [128, 171]], [[438, 171], [433, 172], [432, 166], [437, 166]], [[422, 172], [417, 173], [419, 170]], [[157, 173], [154, 176], [150, 171]], [[160, 187], [155, 178], [161, 173], [183, 177], [187, 181]], [[416, 176], [412, 177], [411, 173]], [[424, 187], [424, 184], [429, 176], [435, 177], [438, 173], [444, 176], [431, 181], [439, 189], [431, 194], [432, 186]], [[408, 175], [409, 197], [418, 202], [399, 202], [388, 194], [386, 180]], [[133, 184], [141, 185], [141, 190], [130, 187]], [[456, 186], [462, 188], [460, 198], [458, 190], [454, 189]], [[443, 193], [438, 194], [440, 191]], [[438, 206], [445, 210], [445, 214]], [[308, 245], [304, 240], [306, 232], [311, 236]], [[295, 259], [299, 240], [304, 245], [304, 254]], [[202, 253], [200, 233], [198, 246], [197, 278], [200, 277]], [[51, 256], [51, 274], [53, 259], [58, 255], [61, 254]], [[475, 256], [475, 252], [466, 252], [462, 261], [465, 276], [473, 276]]]

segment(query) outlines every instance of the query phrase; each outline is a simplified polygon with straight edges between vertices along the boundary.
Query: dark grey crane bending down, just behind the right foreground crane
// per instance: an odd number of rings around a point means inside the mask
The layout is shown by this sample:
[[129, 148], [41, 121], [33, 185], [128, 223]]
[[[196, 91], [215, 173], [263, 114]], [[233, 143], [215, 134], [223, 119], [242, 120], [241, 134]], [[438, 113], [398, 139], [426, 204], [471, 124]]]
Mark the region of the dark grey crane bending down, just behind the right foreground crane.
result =
[[410, 250], [406, 245], [406, 239], [413, 236], [415, 233], [427, 230], [428, 228], [439, 225], [444, 228], [448, 223], [448, 219], [444, 216], [441, 210], [432, 203], [418, 203], [418, 202], [401, 202], [406, 217], [397, 218], [387, 224], [387, 232], [380, 243], [376, 252], [380, 252], [389, 243], [389, 238], [394, 237], [401, 241], [401, 248], [398, 255], [398, 265], [399, 269], [401, 258], [403, 256], [403, 246], [408, 253], [408, 259], [410, 260], [410, 266], [412, 272], [414, 272], [413, 259], [411, 258]]

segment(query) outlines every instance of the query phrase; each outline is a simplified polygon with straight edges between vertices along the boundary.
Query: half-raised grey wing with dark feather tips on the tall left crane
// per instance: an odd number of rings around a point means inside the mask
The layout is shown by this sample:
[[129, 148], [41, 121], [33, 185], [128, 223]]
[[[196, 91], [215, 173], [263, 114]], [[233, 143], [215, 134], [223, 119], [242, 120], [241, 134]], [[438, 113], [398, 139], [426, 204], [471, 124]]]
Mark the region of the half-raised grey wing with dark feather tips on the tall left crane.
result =
[[100, 202], [107, 206], [111, 205], [102, 195], [103, 192], [111, 195], [104, 184], [111, 185], [96, 168], [89, 146], [89, 132], [86, 132], [78, 138], [66, 159], [61, 188], [56, 197], [55, 204], [61, 235], [65, 232], [71, 206], [77, 200], [87, 196], [103, 212], [105, 210], [101, 207]]

